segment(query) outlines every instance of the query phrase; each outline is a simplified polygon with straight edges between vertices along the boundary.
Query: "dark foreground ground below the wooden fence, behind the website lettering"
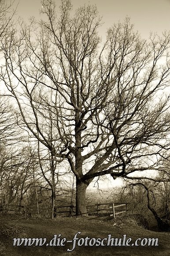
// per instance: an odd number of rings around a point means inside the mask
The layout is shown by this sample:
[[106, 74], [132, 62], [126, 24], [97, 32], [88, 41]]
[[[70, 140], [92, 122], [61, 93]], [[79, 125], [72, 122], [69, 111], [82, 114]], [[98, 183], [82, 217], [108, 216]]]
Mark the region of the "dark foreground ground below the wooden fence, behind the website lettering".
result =
[[[0, 255], [1, 256], [169, 256], [170, 255], [170, 233], [154, 232], [137, 226], [134, 222], [125, 220], [103, 221], [100, 218], [86, 217], [57, 217], [54, 220], [40, 218], [24, 218], [22, 216], [0, 215]], [[126, 240], [131, 237], [130, 246], [78, 246], [71, 252], [72, 243], [64, 246], [47, 246], [46, 244], [54, 238], [55, 234], [61, 234], [68, 240], [72, 240], [76, 233], [78, 238], [122, 238]], [[47, 238], [43, 246], [13, 246], [13, 238]], [[124, 236], [125, 237], [125, 236]], [[137, 238], [158, 238], [158, 246], [131, 246]], [[90, 239], [87, 243], [89, 243]], [[101, 241], [99, 240], [99, 241]], [[80, 242], [83, 241], [82, 239]], [[93, 242], [94, 240], [92, 240]], [[105, 243], [105, 241], [104, 241]], [[63, 242], [64, 244], [64, 242]]]

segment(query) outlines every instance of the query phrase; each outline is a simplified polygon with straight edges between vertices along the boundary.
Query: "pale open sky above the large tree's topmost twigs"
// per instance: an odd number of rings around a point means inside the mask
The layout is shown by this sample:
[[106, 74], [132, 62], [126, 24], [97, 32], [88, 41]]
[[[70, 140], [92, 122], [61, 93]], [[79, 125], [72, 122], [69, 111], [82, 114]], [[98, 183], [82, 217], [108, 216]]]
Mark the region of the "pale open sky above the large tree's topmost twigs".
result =
[[[60, 0], [55, 0], [55, 3], [59, 6]], [[170, 30], [170, 0], [72, 0], [74, 8], [88, 3], [96, 4], [103, 16], [102, 33], [112, 23], [123, 21], [126, 15], [144, 38], [148, 38], [150, 31], [161, 34], [164, 30]], [[18, 15], [38, 18], [41, 6], [40, 0], [19, 0]]]

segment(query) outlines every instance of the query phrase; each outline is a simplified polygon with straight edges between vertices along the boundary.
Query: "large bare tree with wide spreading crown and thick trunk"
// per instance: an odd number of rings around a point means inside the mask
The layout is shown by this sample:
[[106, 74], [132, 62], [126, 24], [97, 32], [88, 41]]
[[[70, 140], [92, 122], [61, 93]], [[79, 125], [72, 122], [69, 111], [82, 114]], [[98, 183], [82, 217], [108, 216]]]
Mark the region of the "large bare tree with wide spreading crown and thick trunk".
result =
[[4, 41], [1, 79], [22, 125], [53, 158], [69, 163], [81, 215], [94, 177], [163, 169], [170, 144], [170, 34], [143, 40], [126, 18], [107, 30], [102, 44], [95, 6], [71, 15], [70, 0], [62, 0], [57, 17], [53, 0], [42, 5], [39, 26], [32, 19], [20, 36]]

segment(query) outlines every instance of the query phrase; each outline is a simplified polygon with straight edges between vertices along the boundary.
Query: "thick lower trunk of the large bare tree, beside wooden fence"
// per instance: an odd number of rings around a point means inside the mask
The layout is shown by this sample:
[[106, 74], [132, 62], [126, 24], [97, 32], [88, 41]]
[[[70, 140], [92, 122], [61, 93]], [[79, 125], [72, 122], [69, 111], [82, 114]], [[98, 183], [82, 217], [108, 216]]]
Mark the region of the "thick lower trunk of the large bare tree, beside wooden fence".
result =
[[86, 188], [87, 184], [76, 179], [76, 215], [88, 215], [85, 199]]

